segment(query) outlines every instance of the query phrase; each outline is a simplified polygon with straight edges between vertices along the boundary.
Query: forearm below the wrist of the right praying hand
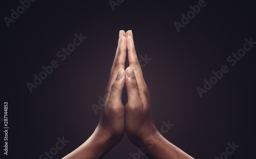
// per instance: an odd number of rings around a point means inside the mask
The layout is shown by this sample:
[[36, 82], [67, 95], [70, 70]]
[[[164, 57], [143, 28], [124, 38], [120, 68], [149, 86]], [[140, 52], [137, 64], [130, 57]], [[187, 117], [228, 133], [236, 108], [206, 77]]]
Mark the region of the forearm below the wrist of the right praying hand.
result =
[[142, 137], [137, 146], [143, 147], [146, 151], [146, 155], [150, 158], [193, 158], [167, 141], [158, 131], [151, 136]]

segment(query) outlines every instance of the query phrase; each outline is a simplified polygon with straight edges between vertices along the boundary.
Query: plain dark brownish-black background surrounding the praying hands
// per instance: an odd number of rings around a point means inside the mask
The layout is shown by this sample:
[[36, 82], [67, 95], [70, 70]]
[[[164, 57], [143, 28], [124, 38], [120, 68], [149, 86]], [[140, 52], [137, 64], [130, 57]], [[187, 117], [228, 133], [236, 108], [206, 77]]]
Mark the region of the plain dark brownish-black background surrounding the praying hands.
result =
[[[138, 56], [152, 59], [142, 71], [156, 127], [167, 120], [175, 124], [163, 134], [167, 140], [195, 158], [219, 156], [234, 141], [240, 147], [228, 158], [253, 158], [256, 46], [234, 67], [226, 58], [245, 38], [256, 41], [254, 1], [206, 1], [180, 33], [174, 21], [181, 22], [198, 0], [125, 0], [115, 11], [108, 0], [36, 1], [9, 28], [4, 16], [20, 3], [1, 3], [1, 102], [8, 101], [9, 158], [39, 158], [65, 136], [70, 142], [53, 157], [61, 158], [90, 137], [100, 116], [91, 105], [103, 96], [119, 30], [133, 30]], [[87, 39], [62, 62], [56, 52], [75, 33]], [[59, 67], [30, 93], [26, 83], [52, 60]], [[196, 88], [222, 65], [229, 72], [200, 98]], [[3, 119], [4, 107], [0, 112]], [[3, 148], [2, 121], [0, 126]], [[104, 158], [128, 159], [136, 152], [124, 135]]]

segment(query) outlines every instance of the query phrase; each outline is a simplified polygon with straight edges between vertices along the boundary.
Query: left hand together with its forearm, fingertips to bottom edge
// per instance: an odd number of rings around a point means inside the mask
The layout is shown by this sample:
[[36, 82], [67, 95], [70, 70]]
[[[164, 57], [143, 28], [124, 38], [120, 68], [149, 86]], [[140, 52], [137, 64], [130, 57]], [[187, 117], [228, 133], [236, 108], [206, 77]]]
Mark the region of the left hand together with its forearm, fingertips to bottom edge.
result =
[[105, 89], [100, 121], [91, 137], [63, 159], [101, 158], [121, 141], [125, 130], [124, 105], [122, 104], [125, 58], [125, 32], [120, 31], [116, 56], [111, 68], [109, 83]]

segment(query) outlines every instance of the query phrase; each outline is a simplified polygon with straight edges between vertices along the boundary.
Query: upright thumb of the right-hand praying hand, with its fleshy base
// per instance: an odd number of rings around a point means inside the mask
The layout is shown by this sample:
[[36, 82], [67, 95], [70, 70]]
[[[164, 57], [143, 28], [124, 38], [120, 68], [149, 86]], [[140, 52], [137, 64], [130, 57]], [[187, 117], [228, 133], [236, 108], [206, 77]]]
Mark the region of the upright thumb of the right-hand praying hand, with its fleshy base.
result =
[[127, 107], [132, 110], [141, 109], [143, 107], [142, 100], [140, 98], [139, 87], [135, 77], [135, 72], [132, 67], [127, 67], [125, 70], [125, 85], [127, 89]]

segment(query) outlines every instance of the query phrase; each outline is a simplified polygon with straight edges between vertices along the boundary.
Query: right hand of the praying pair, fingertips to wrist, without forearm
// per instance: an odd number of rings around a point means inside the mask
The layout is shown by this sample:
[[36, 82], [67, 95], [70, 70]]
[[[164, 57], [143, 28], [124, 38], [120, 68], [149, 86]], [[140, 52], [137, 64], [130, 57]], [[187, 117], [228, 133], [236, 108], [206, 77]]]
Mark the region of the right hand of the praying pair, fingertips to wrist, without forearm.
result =
[[157, 129], [152, 119], [150, 92], [137, 58], [132, 31], [126, 32], [126, 42], [129, 67], [125, 70], [128, 97], [125, 105], [125, 131], [132, 143], [140, 145], [140, 141], [157, 133]]

